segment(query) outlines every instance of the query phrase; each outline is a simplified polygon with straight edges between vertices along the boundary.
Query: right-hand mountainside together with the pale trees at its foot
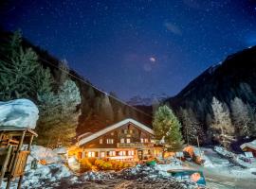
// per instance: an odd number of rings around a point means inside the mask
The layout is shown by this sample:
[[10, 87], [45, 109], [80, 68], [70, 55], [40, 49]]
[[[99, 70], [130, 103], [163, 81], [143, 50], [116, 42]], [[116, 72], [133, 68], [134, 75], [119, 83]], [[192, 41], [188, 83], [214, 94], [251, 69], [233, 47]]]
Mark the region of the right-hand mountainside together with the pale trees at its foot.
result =
[[256, 136], [255, 94], [254, 46], [210, 67], [164, 103], [179, 116], [185, 138], [195, 142], [198, 135], [206, 144], [220, 141], [221, 135], [229, 140]]

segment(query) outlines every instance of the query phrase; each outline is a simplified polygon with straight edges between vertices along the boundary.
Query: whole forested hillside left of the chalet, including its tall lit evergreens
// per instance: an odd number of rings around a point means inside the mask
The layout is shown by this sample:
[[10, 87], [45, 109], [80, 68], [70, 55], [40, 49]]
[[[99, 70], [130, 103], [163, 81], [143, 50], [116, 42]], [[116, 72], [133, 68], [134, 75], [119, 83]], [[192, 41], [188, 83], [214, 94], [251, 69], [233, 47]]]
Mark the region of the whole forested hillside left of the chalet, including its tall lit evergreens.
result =
[[128, 117], [151, 125], [150, 114], [96, 89], [66, 60], [29, 43], [20, 31], [12, 35], [1, 30], [0, 47], [0, 100], [26, 97], [39, 106], [38, 143], [69, 145], [76, 135]]

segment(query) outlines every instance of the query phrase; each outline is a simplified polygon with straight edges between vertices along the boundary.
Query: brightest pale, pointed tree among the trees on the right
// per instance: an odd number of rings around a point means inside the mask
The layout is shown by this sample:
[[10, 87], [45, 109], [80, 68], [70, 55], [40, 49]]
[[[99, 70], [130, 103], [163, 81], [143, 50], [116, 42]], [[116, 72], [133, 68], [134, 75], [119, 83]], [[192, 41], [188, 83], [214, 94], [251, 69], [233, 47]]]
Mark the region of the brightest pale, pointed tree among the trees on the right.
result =
[[221, 144], [229, 147], [229, 142], [234, 135], [229, 110], [215, 97], [212, 98], [211, 108], [214, 116], [211, 129], [217, 132], [216, 135], [219, 137]]

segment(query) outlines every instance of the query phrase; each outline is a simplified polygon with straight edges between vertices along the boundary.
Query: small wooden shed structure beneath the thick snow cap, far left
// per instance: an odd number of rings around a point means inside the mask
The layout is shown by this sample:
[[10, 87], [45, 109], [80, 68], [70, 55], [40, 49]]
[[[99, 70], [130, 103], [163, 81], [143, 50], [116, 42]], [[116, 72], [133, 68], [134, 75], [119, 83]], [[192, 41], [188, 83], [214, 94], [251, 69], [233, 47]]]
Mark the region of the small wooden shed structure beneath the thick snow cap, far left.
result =
[[[0, 187], [3, 180], [7, 180], [9, 188], [10, 181], [19, 178], [17, 188], [21, 188], [34, 136], [37, 133], [32, 129], [0, 127]], [[23, 145], [27, 145], [25, 149]]]

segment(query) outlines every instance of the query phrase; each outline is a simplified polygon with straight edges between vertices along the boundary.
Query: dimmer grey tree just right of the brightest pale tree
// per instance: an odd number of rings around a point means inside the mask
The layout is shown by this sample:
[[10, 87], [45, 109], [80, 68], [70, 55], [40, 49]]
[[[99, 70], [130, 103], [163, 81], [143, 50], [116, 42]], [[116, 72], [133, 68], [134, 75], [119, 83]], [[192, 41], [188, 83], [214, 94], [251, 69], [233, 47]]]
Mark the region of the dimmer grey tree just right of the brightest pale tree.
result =
[[240, 136], [249, 136], [250, 118], [247, 105], [238, 97], [231, 100], [231, 115], [233, 125]]

